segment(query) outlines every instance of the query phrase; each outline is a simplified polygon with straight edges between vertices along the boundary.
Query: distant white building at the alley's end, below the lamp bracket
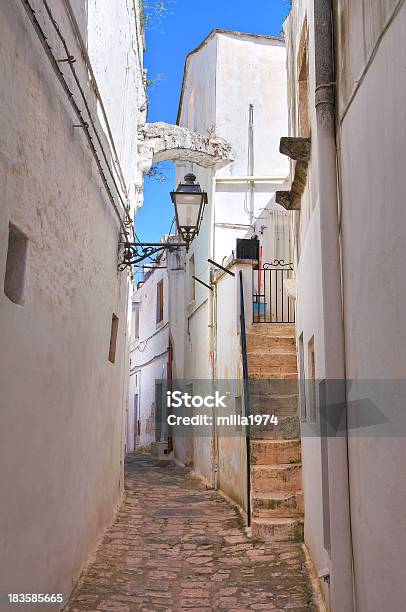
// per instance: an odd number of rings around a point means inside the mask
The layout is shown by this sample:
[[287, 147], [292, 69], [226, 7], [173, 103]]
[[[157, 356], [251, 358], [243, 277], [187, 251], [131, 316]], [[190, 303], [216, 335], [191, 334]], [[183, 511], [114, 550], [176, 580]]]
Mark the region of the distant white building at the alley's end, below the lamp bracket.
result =
[[183, 249], [164, 252], [157, 263], [145, 264], [143, 280], [132, 297], [129, 451], [148, 449], [155, 443], [161, 446], [161, 454], [169, 451], [169, 455], [172, 450], [166, 392], [179, 367], [183, 368], [184, 296]]

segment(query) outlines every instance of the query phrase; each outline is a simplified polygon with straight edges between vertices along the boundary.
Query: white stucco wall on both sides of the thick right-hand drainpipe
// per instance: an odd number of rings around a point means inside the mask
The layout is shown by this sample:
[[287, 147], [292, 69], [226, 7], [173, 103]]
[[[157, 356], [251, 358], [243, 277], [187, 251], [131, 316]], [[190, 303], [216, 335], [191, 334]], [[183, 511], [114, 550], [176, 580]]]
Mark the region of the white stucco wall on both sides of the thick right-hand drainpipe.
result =
[[[337, 60], [337, 143], [341, 211], [341, 258], [345, 365], [347, 380], [401, 380], [405, 337], [400, 305], [405, 298], [402, 272], [405, 214], [405, 111], [399, 100], [406, 86], [399, 41], [406, 33], [406, 9], [395, 1], [334, 3]], [[305, 375], [307, 342], [314, 335], [316, 377], [324, 377], [321, 308], [319, 202], [314, 115], [313, 3], [293, 2], [286, 23], [289, 51], [290, 133], [297, 135], [296, 63], [305, 17], [309, 25], [309, 108], [312, 153], [302, 197], [297, 263], [297, 334], [303, 333]], [[388, 273], [388, 271], [390, 271]], [[383, 383], [385, 384], [385, 383]], [[348, 387], [350, 388], [350, 387]], [[371, 400], [390, 418], [389, 396], [377, 385]], [[400, 388], [400, 387], [399, 387]], [[399, 392], [398, 392], [399, 393]], [[390, 401], [403, 403], [393, 385]], [[354, 424], [351, 405], [349, 425]], [[349, 437], [354, 608], [404, 607], [404, 512], [406, 489], [403, 438]], [[302, 439], [305, 539], [318, 570], [328, 566], [323, 546], [320, 440]], [[332, 568], [340, 571], [340, 568]], [[322, 585], [328, 599], [328, 590]], [[333, 609], [339, 610], [337, 604]]]

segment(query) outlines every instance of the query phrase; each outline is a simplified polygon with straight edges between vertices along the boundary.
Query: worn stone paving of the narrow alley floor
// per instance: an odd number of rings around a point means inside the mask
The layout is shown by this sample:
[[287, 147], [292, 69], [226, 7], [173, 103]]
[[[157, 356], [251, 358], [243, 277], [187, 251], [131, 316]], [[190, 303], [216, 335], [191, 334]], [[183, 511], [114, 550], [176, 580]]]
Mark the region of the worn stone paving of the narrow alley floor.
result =
[[126, 498], [68, 612], [316, 610], [297, 544], [248, 538], [190, 473], [129, 455]]

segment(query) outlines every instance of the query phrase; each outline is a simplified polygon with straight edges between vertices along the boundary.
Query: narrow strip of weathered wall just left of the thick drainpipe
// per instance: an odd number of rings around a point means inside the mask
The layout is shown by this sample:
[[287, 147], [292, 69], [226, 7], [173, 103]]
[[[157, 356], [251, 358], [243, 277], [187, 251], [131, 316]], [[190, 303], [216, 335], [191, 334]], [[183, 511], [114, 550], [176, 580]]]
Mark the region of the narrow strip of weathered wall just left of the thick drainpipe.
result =
[[[308, 108], [311, 132], [311, 158], [308, 166], [307, 182], [301, 197], [300, 211], [294, 212], [294, 262], [297, 279], [296, 334], [303, 338], [304, 370], [300, 376], [311, 379], [309, 360], [309, 341], [314, 339], [316, 378], [324, 378], [324, 331], [321, 288], [320, 260], [320, 203], [318, 198], [318, 151], [316, 138], [316, 113], [314, 104], [314, 32], [313, 2], [293, 2], [292, 11], [285, 22], [288, 65], [288, 103], [289, 135], [299, 136], [299, 68], [298, 58], [303, 49], [303, 41], [308, 38]], [[307, 399], [307, 398], [306, 398]], [[303, 402], [303, 398], [302, 398]], [[309, 401], [307, 414], [302, 417], [312, 421]], [[306, 430], [303, 423], [302, 429]], [[302, 437], [302, 483], [304, 493], [305, 530], [304, 538], [310, 549], [317, 571], [329, 567], [329, 553], [324, 546], [323, 488], [322, 488], [322, 448], [316, 436]], [[328, 584], [320, 581], [326, 600], [329, 600]]]

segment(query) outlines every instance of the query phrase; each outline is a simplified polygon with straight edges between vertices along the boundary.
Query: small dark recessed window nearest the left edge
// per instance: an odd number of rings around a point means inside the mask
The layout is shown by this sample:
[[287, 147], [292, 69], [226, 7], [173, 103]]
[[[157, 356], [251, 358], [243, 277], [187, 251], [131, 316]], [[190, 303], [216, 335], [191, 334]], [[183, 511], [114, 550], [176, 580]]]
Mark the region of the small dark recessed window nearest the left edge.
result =
[[27, 236], [10, 223], [4, 293], [14, 304], [23, 303], [27, 245]]

